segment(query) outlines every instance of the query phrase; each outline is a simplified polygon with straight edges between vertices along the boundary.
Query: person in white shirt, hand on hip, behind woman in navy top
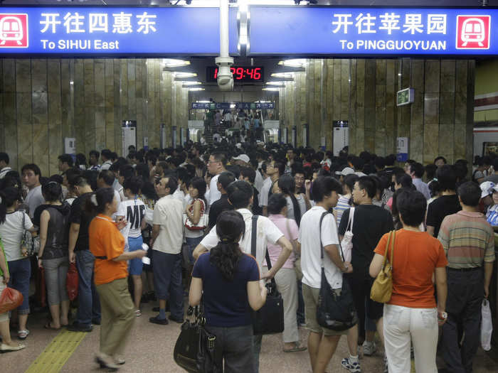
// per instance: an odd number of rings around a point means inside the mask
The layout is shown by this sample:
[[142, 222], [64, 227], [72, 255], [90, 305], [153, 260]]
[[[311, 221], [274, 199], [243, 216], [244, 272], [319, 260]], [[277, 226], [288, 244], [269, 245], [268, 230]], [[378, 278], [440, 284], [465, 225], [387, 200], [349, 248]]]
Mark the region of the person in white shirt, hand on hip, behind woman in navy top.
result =
[[[233, 207], [240, 212], [245, 222], [245, 233], [243, 238], [240, 239], [240, 249], [246, 254], [251, 254], [251, 237], [253, 229], [253, 213], [250, 212], [250, 205], [253, 203], [253, 186], [249, 183], [238, 180], [234, 181], [228, 185], [228, 200], [231, 202]], [[223, 214], [223, 212], [221, 212]], [[263, 259], [265, 258], [267, 244], [278, 244], [282, 247], [282, 252], [276, 263], [272, 266], [272, 269], [266, 274], [261, 276], [261, 279], [272, 279], [277, 271], [285, 264], [285, 261], [290, 256], [292, 252], [292, 244], [290, 241], [280, 232], [280, 229], [267, 217], [258, 217], [257, 222], [257, 232], [258, 237], [256, 239], [256, 261], [260, 267], [260, 273], [262, 271]], [[209, 233], [204, 237], [200, 244], [194, 250], [194, 259], [197, 259], [203, 252], [211, 250], [218, 244], [218, 236], [216, 235], [216, 225], [209, 231]], [[255, 335], [253, 339], [253, 347], [255, 354], [255, 372], [259, 369], [259, 355], [261, 350], [261, 335]]]

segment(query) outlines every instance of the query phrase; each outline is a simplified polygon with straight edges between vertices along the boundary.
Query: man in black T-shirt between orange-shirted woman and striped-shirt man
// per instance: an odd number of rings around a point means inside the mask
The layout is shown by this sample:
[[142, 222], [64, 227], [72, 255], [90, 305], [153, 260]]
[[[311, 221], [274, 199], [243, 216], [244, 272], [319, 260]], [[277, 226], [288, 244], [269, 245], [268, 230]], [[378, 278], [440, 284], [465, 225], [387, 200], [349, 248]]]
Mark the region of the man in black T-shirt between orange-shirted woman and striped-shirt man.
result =
[[456, 214], [462, 210], [457, 193], [455, 192], [457, 175], [454, 167], [450, 165], [440, 166], [436, 170], [436, 178], [443, 192], [439, 198], [433, 200], [428, 205], [427, 219], [425, 220], [427, 232], [433, 237], [438, 237], [441, 223], [447, 215]]

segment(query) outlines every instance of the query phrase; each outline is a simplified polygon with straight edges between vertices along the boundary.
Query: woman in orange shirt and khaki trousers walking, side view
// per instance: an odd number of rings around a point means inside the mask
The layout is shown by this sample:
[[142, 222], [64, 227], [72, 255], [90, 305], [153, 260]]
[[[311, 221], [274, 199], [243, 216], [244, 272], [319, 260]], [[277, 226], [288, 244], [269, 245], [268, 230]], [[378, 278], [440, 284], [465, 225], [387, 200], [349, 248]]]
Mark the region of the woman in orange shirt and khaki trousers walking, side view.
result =
[[100, 352], [95, 360], [101, 368], [113, 370], [124, 364], [121, 355], [135, 318], [128, 291], [127, 261], [146, 254], [142, 249], [124, 252], [120, 229], [126, 227], [127, 221], [114, 222], [111, 218], [118, 203], [113, 188], [100, 188], [86, 202], [86, 210], [97, 215], [88, 227], [90, 252], [95, 256], [95, 287], [102, 310]]

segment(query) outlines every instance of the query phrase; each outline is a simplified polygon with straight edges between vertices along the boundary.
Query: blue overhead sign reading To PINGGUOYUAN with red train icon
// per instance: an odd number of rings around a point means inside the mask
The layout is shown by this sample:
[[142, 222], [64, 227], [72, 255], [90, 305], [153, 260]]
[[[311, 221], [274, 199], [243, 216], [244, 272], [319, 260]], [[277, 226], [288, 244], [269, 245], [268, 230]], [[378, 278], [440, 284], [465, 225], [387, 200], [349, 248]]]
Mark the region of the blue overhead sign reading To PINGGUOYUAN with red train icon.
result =
[[498, 55], [498, 9], [250, 6], [249, 55]]

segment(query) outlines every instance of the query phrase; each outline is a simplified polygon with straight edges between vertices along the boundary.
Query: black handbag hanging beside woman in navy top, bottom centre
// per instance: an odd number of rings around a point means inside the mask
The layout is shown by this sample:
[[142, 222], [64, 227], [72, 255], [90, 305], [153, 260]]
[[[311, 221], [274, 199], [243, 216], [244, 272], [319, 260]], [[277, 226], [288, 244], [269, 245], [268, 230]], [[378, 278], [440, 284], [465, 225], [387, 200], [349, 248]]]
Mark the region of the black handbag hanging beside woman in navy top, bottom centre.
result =
[[181, 332], [174, 346], [173, 358], [179, 367], [190, 373], [221, 373], [222, 357], [220, 349], [216, 348], [216, 335], [208, 333], [204, 328], [201, 307], [195, 310], [189, 307], [187, 316], [195, 313], [195, 320], [188, 318], [181, 325]]

